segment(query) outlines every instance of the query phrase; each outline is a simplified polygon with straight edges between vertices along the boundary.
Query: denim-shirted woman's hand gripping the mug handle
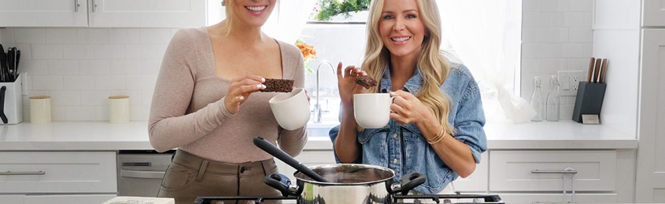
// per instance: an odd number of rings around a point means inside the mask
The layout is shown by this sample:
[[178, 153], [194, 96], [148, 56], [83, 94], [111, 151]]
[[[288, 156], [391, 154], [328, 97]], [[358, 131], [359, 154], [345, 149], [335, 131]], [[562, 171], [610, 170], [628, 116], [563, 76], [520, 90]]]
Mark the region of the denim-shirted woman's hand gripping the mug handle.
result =
[[406, 125], [409, 123], [424, 123], [434, 117], [429, 109], [420, 100], [409, 92], [395, 91], [390, 93], [395, 97], [390, 105], [390, 118], [397, 123]]

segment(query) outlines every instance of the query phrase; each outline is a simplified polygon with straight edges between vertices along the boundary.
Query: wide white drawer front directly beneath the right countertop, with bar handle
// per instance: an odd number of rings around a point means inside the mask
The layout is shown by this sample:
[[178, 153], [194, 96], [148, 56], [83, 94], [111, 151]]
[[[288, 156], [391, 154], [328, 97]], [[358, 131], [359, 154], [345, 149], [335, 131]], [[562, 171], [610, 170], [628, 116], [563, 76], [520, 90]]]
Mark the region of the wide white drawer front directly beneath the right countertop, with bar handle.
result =
[[571, 174], [539, 174], [534, 170], [573, 168], [576, 191], [614, 191], [616, 151], [551, 150], [489, 152], [489, 191], [562, 191], [571, 187]]

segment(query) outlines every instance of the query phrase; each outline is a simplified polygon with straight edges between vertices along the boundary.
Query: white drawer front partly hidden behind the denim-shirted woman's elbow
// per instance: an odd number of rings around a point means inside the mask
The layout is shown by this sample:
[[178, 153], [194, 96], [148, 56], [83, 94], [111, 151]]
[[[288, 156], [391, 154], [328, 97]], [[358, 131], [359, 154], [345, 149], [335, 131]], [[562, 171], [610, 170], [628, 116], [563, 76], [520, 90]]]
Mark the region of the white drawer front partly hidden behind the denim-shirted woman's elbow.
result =
[[487, 191], [487, 168], [489, 167], [489, 154], [480, 154], [480, 164], [475, 165], [475, 171], [467, 178], [457, 178], [452, 182], [456, 192], [486, 192]]

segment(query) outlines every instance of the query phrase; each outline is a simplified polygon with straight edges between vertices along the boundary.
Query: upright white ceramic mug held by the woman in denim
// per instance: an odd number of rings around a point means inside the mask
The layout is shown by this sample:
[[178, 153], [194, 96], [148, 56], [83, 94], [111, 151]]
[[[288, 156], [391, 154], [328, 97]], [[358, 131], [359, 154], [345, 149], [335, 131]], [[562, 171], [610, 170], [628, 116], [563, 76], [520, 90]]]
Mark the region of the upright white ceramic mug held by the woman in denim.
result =
[[353, 115], [363, 128], [382, 128], [390, 121], [390, 93], [356, 93], [353, 95]]

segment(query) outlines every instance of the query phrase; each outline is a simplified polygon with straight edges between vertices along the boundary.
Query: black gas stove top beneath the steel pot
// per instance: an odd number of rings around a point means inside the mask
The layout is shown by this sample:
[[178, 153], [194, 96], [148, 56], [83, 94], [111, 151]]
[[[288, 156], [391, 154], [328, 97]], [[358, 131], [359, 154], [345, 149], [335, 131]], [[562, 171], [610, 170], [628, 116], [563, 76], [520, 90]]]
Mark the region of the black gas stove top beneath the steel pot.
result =
[[[299, 203], [295, 196], [233, 196], [233, 197], [198, 197], [194, 204], [223, 204], [223, 201], [239, 201], [239, 204], [263, 203], [264, 201], [279, 200], [283, 203]], [[222, 201], [222, 202], [219, 202]], [[243, 202], [244, 201], [244, 202]], [[314, 203], [324, 204], [325, 201], [315, 201]], [[505, 204], [501, 201], [499, 195], [487, 194], [430, 194], [430, 195], [392, 195], [392, 202], [389, 204], [407, 204], [407, 203], [485, 203], [485, 204]]]

